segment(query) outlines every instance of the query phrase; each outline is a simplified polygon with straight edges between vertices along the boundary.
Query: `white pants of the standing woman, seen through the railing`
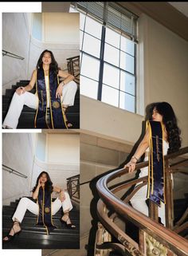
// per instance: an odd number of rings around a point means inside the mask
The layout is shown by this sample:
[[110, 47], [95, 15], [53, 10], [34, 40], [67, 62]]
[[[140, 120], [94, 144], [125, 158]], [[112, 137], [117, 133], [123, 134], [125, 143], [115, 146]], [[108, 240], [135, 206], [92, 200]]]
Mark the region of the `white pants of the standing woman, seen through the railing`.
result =
[[[140, 174], [139, 178], [148, 175], [148, 168], [144, 167]], [[139, 185], [140, 183], [138, 183]], [[133, 208], [143, 213], [143, 215], [149, 215], [147, 203], [147, 186], [143, 186], [135, 193], [135, 195], [131, 198], [130, 202]], [[164, 226], [166, 226], [166, 219], [165, 219], [165, 204], [161, 203], [161, 207], [158, 207], [159, 217], [161, 218], [161, 222]]]

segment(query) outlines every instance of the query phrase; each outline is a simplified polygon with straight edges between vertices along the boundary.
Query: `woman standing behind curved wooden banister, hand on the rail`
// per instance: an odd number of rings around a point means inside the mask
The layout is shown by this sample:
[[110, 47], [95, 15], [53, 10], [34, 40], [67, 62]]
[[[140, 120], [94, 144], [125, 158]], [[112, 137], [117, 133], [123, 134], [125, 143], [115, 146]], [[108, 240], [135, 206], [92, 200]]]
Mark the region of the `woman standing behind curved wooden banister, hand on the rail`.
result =
[[[178, 128], [177, 119], [174, 114], [173, 108], [167, 102], [157, 102], [151, 104], [151, 106], [152, 120], [155, 122], [160, 122], [163, 129], [163, 155], [178, 151], [178, 149], [181, 148], [180, 129]], [[148, 160], [148, 147], [150, 144], [149, 133], [149, 128], [147, 128], [145, 136], [139, 144], [134, 156], [132, 156], [131, 161], [124, 166], [125, 168], [128, 168], [129, 172], [135, 170], [135, 164], [137, 163], [139, 158], [143, 156], [143, 153], [146, 152], [144, 160]], [[139, 178], [147, 175], [148, 167], [144, 167], [143, 169], [141, 169]], [[141, 187], [139, 191], [137, 191], [132, 197], [131, 205], [136, 210], [141, 211], [144, 215], [148, 216], [148, 207], [146, 203], [147, 192], [147, 186]], [[161, 203], [161, 207], [159, 207], [159, 217], [161, 218], [161, 223], [165, 225], [166, 223], [164, 203]]]

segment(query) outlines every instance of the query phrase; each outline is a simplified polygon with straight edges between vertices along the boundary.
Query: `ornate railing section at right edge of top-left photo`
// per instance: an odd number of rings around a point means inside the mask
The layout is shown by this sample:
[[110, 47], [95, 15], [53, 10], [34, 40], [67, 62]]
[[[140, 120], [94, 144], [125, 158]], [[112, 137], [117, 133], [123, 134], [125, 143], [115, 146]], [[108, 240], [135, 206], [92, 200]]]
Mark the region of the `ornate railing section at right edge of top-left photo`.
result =
[[80, 85], [80, 56], [69, 57], [66, 60], [69, 73], [75, 77], [76, 83]]

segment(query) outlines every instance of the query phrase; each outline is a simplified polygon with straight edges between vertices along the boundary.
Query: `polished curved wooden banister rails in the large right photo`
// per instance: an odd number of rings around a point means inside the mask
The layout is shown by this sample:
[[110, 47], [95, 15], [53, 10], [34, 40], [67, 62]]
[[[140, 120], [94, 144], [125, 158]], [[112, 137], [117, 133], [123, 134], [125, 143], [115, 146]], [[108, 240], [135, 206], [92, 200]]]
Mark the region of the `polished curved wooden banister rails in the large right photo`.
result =
[[[182, 156], [188, 152], [188, 147], [181, 148], [178, 152], [174, 152], [170, 155], [165, 156], [166, 162], [168, 160], [172, 160], [178, 156]], [[182, 163], [185, 163], [183, 160]], [[175, 165], [175, 163], [173, 163]], [[135, 171], [148, 166], [148, 161], [144, 163], [137, 163], [135, 166]], [[134, 223], [135, 226], [139, 227], [139, 230], [144, 230], [146, 234], [151, 235], [158, 242], [161, 242], [163, 246], [166, 246], [169, 250], [173, 251], [174, 254], [178, 256], [187, 256], [188, 255], [188, 242], [185, 238], [180, 237], [174, 231], [167, 229], [163, 225], [157, 223], [156, 221], [148, 218], [146, 215], [143, 215], [141, 212], [136, 211], [133, 207], [128, 205], [127, 203], [121, 201], [116, 195], [115, 192], [121, 191], [123, 188], [130, 186], [130, 184], [140, 182], [140, 179], [131, 180], [131, 183], [119, 183], [113, 185], [113, 189], [111, 190], [108, 187], [108, 183], [112, 180], [120, 177], [122, 175], [127, 175], [128, 171], [125, 169], [119, 169], [117, 171], [113, 171], [108, 175], [104, 175], [104, 177], [100, 178], [96, 183], [96, 189], [100, 195], [100, 200], [97, 205], [98, 216], [101, 223], [104, 225], [104, 228], [107, 229], [110, 234], [114, 235], [124, 246], [128, 243], [131, 244], [131, 250], [135, 252], [132, 255], [146, 255], [143, 254], [142, 250], [140, 250], [139, 244], [135, 241], [131, 241], [131, 238], [127, 236], [127, 234], [119, 229], [119, 226], [116, 226], [116, 223], [112, 222], [112, 219], [107, 214], [107, 207], [116, 213], [116, 215], [121, 216], [122, 219], [127, 219]], [[147, 177], [141, 178], [142, 181], [146, 180]], [[127, 201], [127, 200], [126, 200]], [[101, 249], [103, 246], [97, 247]], [[104, 246], [105, 247], [105, 246]], [[107, 247], [107, 245], [106, 245]], [[126, 246], [125, 246], [126, 247]], [[110, 243], [108, 243], [108, 248], [112, 248]]]

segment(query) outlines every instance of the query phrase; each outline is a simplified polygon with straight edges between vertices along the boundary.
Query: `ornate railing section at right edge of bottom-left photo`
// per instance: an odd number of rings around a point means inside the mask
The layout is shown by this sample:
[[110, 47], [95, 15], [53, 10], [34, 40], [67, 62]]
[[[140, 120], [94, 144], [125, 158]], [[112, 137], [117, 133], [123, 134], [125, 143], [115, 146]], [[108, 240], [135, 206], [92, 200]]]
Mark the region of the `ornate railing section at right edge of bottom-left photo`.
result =
[[80, 202], [80, 175], [67, 178], [67, 190], [71, 199]]

